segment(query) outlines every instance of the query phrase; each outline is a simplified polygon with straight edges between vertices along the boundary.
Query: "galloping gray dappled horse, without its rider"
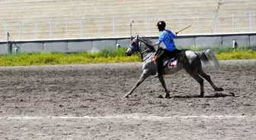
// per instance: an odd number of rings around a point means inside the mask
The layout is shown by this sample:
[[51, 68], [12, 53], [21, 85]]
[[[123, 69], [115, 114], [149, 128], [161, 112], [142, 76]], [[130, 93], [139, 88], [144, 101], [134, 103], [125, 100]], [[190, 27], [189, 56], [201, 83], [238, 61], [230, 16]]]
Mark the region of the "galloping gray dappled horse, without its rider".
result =
[[[152, 42], [146, 38], [139, 38], [136, 36], [133, 39], [132, 44], [126, 51], [127, 56], [131, 56], [135, 51], [139, 51], [143, 65], [142, 65], [142, 75], [139, 78], [139, 81], [136, 82], [136, 85], [133, 89], [130, 90], [124, 97], [128, 98], [129, 95], [133, 93], [133, 91], [138, 87], [147, 77], [151, 75], [155, 75], [156, 68], [154, 63], [154, 56], [155, 56], [155, 48], [152, 45]], [[188, 51], [188, 50], [180, 50], [178, 54], [175, 54], [174, 58], [165, 58], [164, 60], [164, 67], [163, 67], [163, 75], [176, 73], [179, 70], [186, 70], [187, 73], [190, 74], [197, 82], [200, 83], [200, 95], [199, 97], [203, 97], [203, 79], [200, 77], [202, 76], [210, 85], [213, 86], [215, 91], [223, 91], [224, 89], [218, 88], [214, 85], [210, 76], [202, 70], [202, 64], [209, 64], [213, 62], [213, 66], [219, 68], [219, 61], [216, 56], [213, 54], [213, 51], [207, 49], [206, 51]], [[165, 98], [170, 98], [170, 93], [166, 88], [165, 79], [163, 76], [159, 76], [158, 79], [162, 83], [163, 88], [165, 89]]]

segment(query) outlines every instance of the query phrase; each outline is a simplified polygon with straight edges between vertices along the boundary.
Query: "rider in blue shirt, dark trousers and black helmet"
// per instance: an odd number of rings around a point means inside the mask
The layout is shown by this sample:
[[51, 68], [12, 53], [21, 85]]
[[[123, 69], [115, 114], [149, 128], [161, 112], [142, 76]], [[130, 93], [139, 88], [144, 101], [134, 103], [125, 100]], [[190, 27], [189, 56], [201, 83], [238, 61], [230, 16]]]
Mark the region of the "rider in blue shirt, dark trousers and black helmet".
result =
[[[171, 58], [174, 57], [175, 53], [178, 53], [178, 50], [175, 46], [174, 39], [176, 39], [176, 35], [178, 33], [175, 33], [174, 35], [170, 30], [165, 30], [166, 23], [165, 21], [158, 21], [157, 25], [159, 32], [162, 32], [159, 36], [158, 42], [155, 43], [155, 45], [160, 45], [162, 42], [165, 43], [164, 50], [158, 54], [158, 57], [155, 60], [155, 67], [157, 70], [157, 73], [153, 77], [162, 76], [162, 67], [163, 67], [163, 59], [167, 56], [170, 56]], [[154, 46], [155, 46], [154, 45]]]

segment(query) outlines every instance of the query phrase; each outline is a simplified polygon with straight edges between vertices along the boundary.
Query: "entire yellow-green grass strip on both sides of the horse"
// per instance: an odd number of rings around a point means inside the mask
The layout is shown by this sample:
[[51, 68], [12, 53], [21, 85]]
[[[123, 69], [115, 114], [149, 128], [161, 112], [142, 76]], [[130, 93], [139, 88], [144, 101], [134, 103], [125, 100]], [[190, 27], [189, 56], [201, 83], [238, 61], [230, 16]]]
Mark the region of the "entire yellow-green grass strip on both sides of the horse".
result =
[[[181, 48], [181, 47], [178, 47]], [[202, 51], [206, 48], [191, 46], [191, 51]], [[235, 52], [230, 47], [217, 46], [213, 48], [219, 60], [230, 59], [256, 59], [256, 51], [248, 47], [238, 47]], [[49, 64], [97, 64], [97, 63], [124, 63], [139, 62], [139, 54], [132, 57], [125, 56], [126, 48], [103, 49], [98, 52], [80, 52], [73, 54], [65, 53], [20, 53], [0, 56], [0, 66], [28, 66]]]

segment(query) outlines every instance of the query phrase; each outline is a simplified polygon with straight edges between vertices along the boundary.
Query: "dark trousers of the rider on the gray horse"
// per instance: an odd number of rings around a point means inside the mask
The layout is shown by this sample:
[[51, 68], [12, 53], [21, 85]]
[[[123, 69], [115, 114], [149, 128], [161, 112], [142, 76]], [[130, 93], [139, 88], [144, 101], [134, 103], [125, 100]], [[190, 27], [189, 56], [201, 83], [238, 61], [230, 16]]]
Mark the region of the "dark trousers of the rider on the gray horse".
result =
[[180, 52], [178, 49], [175, 49], [174, 51], [168, 51], [167, 49], [164, 49], [160, 54], [158, 54], [155, 62], [156, 62], [156, 70], [158, 71], [158, 74], [162, 75], [162, 67], [163, 67], [163, 60], [166, 57], [173, 58], [174, 54]]

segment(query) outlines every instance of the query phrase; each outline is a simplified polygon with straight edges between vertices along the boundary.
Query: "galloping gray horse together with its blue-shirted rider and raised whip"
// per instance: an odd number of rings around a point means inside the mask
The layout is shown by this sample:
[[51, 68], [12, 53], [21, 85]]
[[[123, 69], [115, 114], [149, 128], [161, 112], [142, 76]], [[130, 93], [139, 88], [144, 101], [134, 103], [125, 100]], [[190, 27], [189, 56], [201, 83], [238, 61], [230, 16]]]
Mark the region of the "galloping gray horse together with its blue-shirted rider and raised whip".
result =
[[[163, 75], [170, 75], [178, 72], [179, 70], [185, 70], [190, 76], [192, 76], [197, 82], [200, 84], [200, 95], [199, 97], [203, 97], [203, 79], [206, 79], [210, 85], [213, 87], [215, 91], [223, 91], [221, 87], [217, 87], [209, 75], [204, 73], [202, 63], [203, 64], [213, 64], [213, 67], [219, 68], [219, 60], [216, 58], [212, 49], [206, 49], [204, 51], [189, 51], [186, 49], [178, 50], [174, 45], [174, 40], [177, 36], [171, 33], [170, 30], [165, 30], [165, 22], [159, 21], [158, 30], [161, 33], [159, 36], [158, 42], [155, 45], [159, 45], [161, 42], [165, 43], [165, 49], [161, 48], [156, 51], [152, 42], [149, 39], [139, 38], [136, 36], [133, 39], [132, 44], [129, 48], [127, 48], [126, 55], [131, 56], [135, 51], [140, 52], [140, 56], [142, 57], [142, 74], [139, 77], [139, 80], [133, 86], [133, 89], [130, 89], [125, 98], [128, 98], [134, 90], [149, 76], [155, 75], [158, 77], [161, 82], [163, 88], [165, 89], [165, 98], [170, 98], [170, 92], [167, 89], [165, 84], [165, 79]], [[187, 26], [183, 30], [187, 29], [190, 26]], [[178, 31], [181, 32], [182, 30]], [[177, 33], [175, 33], [177, 34]], [[164, 50], [164, 51], [162, 51]], [[176, 54], [177, 53], [177, 54]], [[156, 66], [155, 66], [155, 54], [158, 56], [156, 58]], [[166, 57], [166, 58], [165, 58]], [[175, 61], [171, 60], [171, 58], [175, 58]], [[166, 60], [165, 60], [166, 59]], [[163, 60], [165, 60], [163, 64]], [[174, 63], [173, 63], [174, 62]], [[175, 65], [175, 67], [174, 67]], [[155, 67], [157, 70], [155, 70]], [[162, 71], [164, 73], [162, 73]]]

